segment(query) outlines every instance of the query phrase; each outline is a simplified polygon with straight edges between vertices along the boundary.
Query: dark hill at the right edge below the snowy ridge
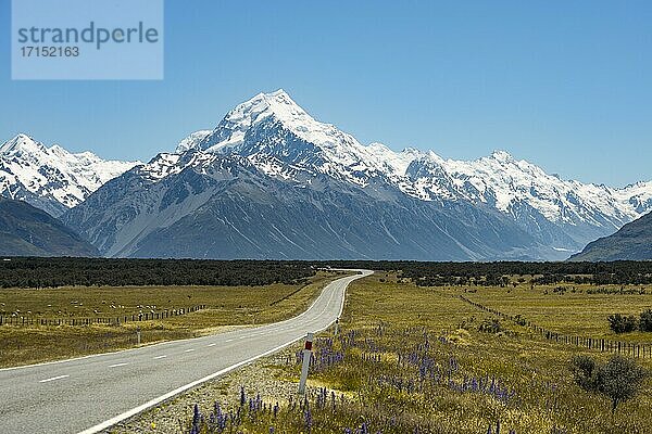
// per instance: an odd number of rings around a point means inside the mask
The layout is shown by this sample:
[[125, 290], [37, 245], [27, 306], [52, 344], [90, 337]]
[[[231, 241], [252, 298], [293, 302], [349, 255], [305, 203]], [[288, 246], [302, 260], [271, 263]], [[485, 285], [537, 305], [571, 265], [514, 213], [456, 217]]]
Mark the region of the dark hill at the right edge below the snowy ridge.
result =
[[652, 259], [652, 213], [625, 225], [613, 235], [589, 243], [570, 260]]

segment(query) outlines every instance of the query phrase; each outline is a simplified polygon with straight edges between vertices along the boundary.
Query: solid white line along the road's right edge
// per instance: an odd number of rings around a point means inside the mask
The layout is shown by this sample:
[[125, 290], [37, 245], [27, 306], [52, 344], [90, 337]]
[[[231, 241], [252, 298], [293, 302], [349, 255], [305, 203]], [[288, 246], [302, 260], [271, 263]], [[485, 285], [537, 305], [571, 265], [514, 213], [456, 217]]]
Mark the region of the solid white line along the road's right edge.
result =
[[[348, 270], [348, 271], [351, 271], [351, 270]], [[367, 276], [373, 275], [373, 271], [371, 273], [366, 273], [366, 270], [365, 271], [363, 271], [363, 270], [356, 270], [356, 271], [360, 271], [362, 273], [361, 275], [352, 276], [355, 279], [351, 279], [347, 283], [346, 286], [348, 286], [349, 283], [353, 282], [354, 280], [362, 279], [362, 278], [365, 278]], [[342, 303], [340, 305], [340, 310], [339, 310], [339, 314], [338, 314], [338, 318], [341, 317], [341, 315], [342, 315], [342, 311], [343, 311], [343, 308], [344, 308], [344, 298], [346, 298], [346, 293], [342, 294]], [[311, 305], [311, 307], [312, 307], [312, 305]], [[314, 332], [318, 333], [321, 331], [324, 331], [324, 330], [328, 329], [330, 326], [333, 326], [334, 322], [335, 322], [335, 320], [333, 320], [330, 323], [328, 323], [328, 326], [326, 326], [325, 328], [319, 329], [319, 330], [315, 330]], [[268, 349], [265, 353], [261, 353], [258, 356], [251, 357], [251, 358], [249, 358], [247, 360], [239, 361], [236, 365], [231, 365], [231, 366], [229, 366], [227, 368], [224, 368], [224, 369], [222, 369], [222, 370], [220, 370], [217, 372], [214, 372], [214, 373], [212, 373], [210, 375], [206, 375], [203, 379], [199, 379], [197, 381], [193, 381], [192, 383], [188, 383], [188, 384], [186, 384], [184, 386], [177, 387], [174, 391], [166, 393], [165, 395], [161, 395], [158, 398], [151, 399], [151, 400], [149, 400], [149, 401], [147, 401], [147, 403], [138, 406], [138, 407], [135, 407], [135, 408], [133, 408], [130, 410], [125, 411], [122, 414], [118, 414], [118, 416], [116, 416], [114, 418], [105, 420], [104, 422], [98, 423], [97, 425], [91, 426], [91, 427], [89, 427], [87, 430], [80, 431], [77, 434], [96, 434], [96, 433], [99, 433], [100, 431], [105, 430], [105, 429], [108, 429], [110, 426], [113, 426], [116, 423], [124, 421], [125, 419], [129, 419], [129, 418], [131, 418], [131, 417], [134, 417], [134, 416], [136, 416], [136, 414], [138, 414], [138, 413], [140, 413], [140, 412], [142, 412], [145, 410], [147, 410], [150, 407], [153, 407], [153, 406], [155, 406], [158, 404], [163, 403], [166, 399], [170, 399], [170, 398], [172, 398], [172, 397], [174, 397], [174, 396], [176, 396], [176, 395], [178, 395], [180, 393], [184, 393], [184, 392], [188, 391], [189, 388], [198, 386], [201, 383], [205, 383], [206, 381], [213, 380], [216, 376], [224, 375], [225, 373], [230, 372], [234, 369], [238, 369], [238, 368], [240, 368], [240, 367], [242, 367], [244, 365], [251, 363], [252, 361], [255, 361], [255, 360], [258, 360], [258, 359], [260, 359], [262, 357], [265, 357], [265, 356], [268, 356], [271, 354], [274, 354], [274, 353], [278, 352], [279, 349], [283, 349], [286, 346], [293, 344], [294, 342], [301, 341], [302, 339], [303, 339], [303, 336], [299, 336], [299, 337], [297, 337], [297, 339], [294, 339], [292, 341], [286, 342], [285, 344], [281, 344], [281, 345], [277, 346], [275, 348]]]

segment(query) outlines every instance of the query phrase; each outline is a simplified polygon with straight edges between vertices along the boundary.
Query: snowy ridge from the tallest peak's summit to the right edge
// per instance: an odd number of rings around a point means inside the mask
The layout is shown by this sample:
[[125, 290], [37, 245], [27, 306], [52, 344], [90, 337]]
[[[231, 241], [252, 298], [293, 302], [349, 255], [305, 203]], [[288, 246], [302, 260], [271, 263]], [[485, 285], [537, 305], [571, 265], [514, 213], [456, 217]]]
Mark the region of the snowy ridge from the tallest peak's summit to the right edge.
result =
[[[296, 182], [323, 174], [362, 188], [386, 182], [423, 201], [490, 206], [529, 231], [548, 231], [556, 240], [550, 242], [562, 244], [555, 245], [560, 250], [580, 248], [592, 237], [613, 233], [652, 209], [652, 182], [615, 189], [562, 180], [504, 151], [465, 162], [415, 149], [363, 145], [334, 125], [315, 120], [284, 90], [259, 93], [201, 139], [204, 133], [178, 151], [239, 154], [263, 173]], [[554, 234], [557, 227], [568, 232], [566, 239]]]

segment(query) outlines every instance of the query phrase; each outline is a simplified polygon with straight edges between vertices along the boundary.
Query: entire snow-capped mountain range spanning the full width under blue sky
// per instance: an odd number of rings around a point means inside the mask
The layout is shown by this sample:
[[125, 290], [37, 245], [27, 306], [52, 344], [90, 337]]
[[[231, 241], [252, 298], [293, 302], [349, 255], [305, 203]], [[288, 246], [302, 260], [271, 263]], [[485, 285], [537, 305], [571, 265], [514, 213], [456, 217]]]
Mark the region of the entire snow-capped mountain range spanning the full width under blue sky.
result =
[[[80, 174], [71, 162], [89, 154], [25, 136], [8, 143], [0, 192], [60, 216], [108, 256], [565, 259], [652, 210], [652, 182], [562, 180], [504, 151], [464, 162], [363, 145], [283, 90], [147, 164], [96, 157], [98, 169], [82, 164]], [[57, 170], [33, 163], [15, 175], [32, 153]], [[42, 159], [57, 153], [65, 157]], [[91, 182], [95, 170], [102, 175]]]

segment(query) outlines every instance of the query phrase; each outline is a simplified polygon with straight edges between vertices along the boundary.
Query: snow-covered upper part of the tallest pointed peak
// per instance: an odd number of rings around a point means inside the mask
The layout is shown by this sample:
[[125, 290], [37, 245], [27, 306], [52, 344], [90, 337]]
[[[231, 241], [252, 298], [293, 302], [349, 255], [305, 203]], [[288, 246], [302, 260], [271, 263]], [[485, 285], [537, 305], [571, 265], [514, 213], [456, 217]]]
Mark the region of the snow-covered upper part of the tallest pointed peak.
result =
[[246, 155], [264, 163], [261, 168], [269, 175], [288, 178], [287, 173], [277, 170], [280, 165], [361, 187], [369, 178], [392, 175], [405, 164], [401, 163], [404, 158], [383, 144], [364, 146], [334, 125], [315, 120], [283, 89], [259, 93], [238, 105], [198, 148]]

